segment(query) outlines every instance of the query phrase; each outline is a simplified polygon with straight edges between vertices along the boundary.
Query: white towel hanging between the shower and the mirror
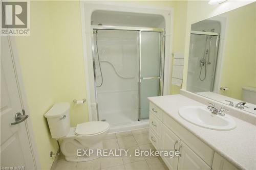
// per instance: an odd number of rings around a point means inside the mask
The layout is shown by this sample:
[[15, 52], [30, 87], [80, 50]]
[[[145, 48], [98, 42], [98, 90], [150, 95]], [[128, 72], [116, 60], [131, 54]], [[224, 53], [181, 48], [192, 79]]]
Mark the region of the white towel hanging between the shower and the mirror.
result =
[[174, 53], [172, 84], [181, 86], [183, 80], [184, 53]]

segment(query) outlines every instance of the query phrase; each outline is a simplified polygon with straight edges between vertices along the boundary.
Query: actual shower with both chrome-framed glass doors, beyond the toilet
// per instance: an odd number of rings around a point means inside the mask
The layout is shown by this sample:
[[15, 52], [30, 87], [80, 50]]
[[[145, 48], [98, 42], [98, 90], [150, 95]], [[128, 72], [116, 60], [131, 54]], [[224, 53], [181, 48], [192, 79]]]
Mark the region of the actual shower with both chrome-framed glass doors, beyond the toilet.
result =
[[112, 127], [149, 117], [163, 93], [164, 29], [91, 26], [98, 120]]

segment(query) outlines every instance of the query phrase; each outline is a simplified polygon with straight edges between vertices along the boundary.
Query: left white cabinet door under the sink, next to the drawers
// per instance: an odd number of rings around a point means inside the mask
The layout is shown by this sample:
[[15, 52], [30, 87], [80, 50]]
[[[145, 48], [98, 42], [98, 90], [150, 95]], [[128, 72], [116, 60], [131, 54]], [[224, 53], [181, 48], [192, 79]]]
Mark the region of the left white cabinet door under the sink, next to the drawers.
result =
[[[174, 151], [177, 150], [180, 145], [180, 139], [170, 131], [165, 125], [162, 127], [162, 143], [161, 150], [164, 151]], [[178, 166], [178, 157], [164, 157], [162, 156], [163, 161], [168, 166], [169, 169], [177, 169]]]

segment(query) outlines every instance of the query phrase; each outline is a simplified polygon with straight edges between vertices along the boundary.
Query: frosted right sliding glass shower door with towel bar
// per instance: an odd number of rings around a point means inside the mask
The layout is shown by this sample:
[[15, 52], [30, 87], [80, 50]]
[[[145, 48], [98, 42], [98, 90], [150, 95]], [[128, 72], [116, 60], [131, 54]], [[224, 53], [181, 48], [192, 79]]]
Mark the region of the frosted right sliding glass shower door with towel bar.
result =
[[149, 117], [150, 96], [161, 95], [162, 91], [162, 33], [140, 32], [140, 111], [139, 119]]

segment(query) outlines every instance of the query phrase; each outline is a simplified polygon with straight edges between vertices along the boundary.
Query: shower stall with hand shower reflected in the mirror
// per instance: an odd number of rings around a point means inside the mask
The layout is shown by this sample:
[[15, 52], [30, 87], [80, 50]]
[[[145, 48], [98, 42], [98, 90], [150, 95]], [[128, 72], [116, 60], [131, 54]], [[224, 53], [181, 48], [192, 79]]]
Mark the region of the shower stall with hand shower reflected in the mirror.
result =
[[219, 38], [218, 21], [206, 20], [192, 25], [188, 58], [188, 91], [214, 91]]

